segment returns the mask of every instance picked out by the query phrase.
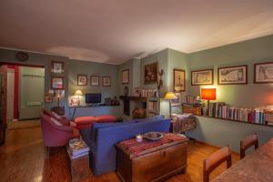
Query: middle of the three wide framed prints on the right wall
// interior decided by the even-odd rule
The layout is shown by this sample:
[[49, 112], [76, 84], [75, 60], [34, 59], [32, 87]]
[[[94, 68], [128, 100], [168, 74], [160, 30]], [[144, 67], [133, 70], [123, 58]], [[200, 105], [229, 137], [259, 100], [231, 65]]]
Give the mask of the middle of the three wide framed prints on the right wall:
[[218, 67], [218, 85], [248, 84], [248, 66]]

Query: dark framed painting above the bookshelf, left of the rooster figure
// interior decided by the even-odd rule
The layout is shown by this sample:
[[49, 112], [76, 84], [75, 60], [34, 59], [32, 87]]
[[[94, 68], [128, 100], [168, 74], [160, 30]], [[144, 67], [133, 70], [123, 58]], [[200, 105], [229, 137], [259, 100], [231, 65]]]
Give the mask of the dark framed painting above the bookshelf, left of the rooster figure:
[[145, 84], [157, 83], [157, 62], [144, 66]]

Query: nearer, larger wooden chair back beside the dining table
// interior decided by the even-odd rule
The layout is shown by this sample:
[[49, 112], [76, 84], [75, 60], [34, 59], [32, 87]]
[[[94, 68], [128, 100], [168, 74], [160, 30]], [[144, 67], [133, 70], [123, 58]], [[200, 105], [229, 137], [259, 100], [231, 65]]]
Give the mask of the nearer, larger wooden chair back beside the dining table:
[[231, 167], [231, 152], [229, 146], [222, 147], [204, 160], [203, 182], [208, 182], [209, 174], [225, 161], [227, 161], [227, 168]]

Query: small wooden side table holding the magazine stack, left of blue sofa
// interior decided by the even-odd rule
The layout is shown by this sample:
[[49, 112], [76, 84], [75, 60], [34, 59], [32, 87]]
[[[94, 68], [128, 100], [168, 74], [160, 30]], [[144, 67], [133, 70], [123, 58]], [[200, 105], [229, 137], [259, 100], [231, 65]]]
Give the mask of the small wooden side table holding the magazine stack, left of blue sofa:
[[71, 174], [71, 181], [81, 181], [86, 177], [90, 176], [90, 168], [89, 168], [89, 155], [72, 158], [67, 151], [68, 156], [68, 167]]

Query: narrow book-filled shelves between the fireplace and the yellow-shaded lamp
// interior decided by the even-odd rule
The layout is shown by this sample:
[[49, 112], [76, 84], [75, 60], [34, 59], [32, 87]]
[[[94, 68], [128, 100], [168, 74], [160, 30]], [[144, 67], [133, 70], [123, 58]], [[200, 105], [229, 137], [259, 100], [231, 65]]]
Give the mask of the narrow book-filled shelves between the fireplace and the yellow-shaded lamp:
[[147, 97], [147, 118], [160, 115], [160, 98]]

